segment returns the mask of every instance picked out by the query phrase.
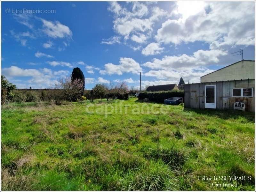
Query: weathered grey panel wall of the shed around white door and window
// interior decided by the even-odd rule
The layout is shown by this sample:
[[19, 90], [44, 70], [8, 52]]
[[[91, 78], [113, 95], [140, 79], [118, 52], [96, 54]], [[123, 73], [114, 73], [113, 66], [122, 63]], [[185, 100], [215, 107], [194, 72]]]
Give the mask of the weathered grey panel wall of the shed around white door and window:
[[[185, 84], [184, 106], [204, 109], [204, 85], [216, 85], [216, 108], [233, 109], [235, 102], [243, 102], [245, 111], [254, 112], [254, 79]], [[253, 88], [253, 97], [232, 97], [233, 88]]]

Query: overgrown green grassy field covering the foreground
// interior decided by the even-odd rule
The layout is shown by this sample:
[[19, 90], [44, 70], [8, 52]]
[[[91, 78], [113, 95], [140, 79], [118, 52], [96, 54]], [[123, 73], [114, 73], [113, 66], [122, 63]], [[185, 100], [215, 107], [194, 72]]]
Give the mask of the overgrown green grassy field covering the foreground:
[[254, 168], [253, 113], [136, 98], [2, 108], [3, 190], [253, 190]]

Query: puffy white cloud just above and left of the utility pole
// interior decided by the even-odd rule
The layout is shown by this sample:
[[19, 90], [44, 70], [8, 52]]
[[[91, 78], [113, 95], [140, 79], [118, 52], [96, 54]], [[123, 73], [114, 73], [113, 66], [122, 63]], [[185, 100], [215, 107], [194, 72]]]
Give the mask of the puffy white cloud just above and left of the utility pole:
[[117, 74], [122, 75], [123, 73], [139, 73], [142, 71], [140, 64], [134, 61], [132, 58], [120, 57], [119, 65], [107, 63], [104, 65], [105, 69], [100, 70], [100, 74]]

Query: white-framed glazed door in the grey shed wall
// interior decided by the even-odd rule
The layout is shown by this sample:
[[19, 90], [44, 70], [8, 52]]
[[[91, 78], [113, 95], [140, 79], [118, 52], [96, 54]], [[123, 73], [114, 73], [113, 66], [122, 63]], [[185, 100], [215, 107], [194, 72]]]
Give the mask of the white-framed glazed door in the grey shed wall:
[[204, 107], [216, 109], [216, 85], [204, 86]]

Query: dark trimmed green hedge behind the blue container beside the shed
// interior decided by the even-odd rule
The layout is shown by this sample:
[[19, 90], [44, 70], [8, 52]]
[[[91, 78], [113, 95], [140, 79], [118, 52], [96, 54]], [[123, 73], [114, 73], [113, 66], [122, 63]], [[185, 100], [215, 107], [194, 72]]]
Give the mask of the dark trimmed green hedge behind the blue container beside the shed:
[[164, 103], [165, 99], [170, 97], [182, 97], [184, 101], [184, 91], [160, 91], [160, 92], [141, 92], [139, 94], [139, 100], [143, 100], [148, 98], [149, 101], [156, 102], [156, 103]]

